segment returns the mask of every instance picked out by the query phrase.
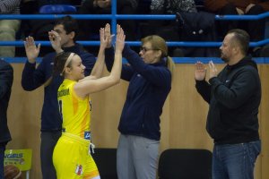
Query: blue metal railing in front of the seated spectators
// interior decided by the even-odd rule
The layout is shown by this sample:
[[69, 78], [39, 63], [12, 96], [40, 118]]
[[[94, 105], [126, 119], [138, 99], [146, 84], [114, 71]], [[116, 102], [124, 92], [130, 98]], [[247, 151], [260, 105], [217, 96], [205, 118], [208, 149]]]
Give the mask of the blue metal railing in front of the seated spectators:
[[[117, 27], [117, 20], [175, 20], [176, 15], [167, 15], [167, 14], [160, 14], [160, 15], [147, 15], [147, 14], [134, 14], [134, 15], [125, 15], [125, 14], [117, 14], [117, 1], [112, 1], [111, 7], [111, 14], [71, 14], [74, 19], [77, 20], [92, 20], [92, 19], [99, 19], [99, 20], [111, 20], [111, 31], [112, 33], [116, 33]], [[1, 19], [6, 20], [53, 20], [64, 17], [66, 14], [20, 14], [20, 15], [7, 15], [1, 14]], [[248, 20], [260, 20], [269, 17], [269, 12], [262, 13], [258, 15], [216, 15], [216, 21], [233, 21], [233, 20], [240, 20], [240, 21], [248, 21]], [[49, 41], [36, 41], [40, 43], [42, 46], [50, 46]], [[83, 46], [99, 46], [100, 41], [77, 41], [78, 43], [82, 44]], [[141, 42], [138, 41], [126, 41], [127, 44], [130, 46], [140, 46]], [[169, 47], [220, 47], [221, 42], [201, 42], [201, 41], [192, 41], [192, 42], [184, 42], [184, 41], [168, 41], [167, 42]], [[269, 44], [269, 38], [264, 40], [260, 40], [257, 42], [250, 42], [250, 47], [260, 47]], [[23, 41], [1, 41], [0, 46], [16, 46], [16, 47], [23, 47]], [[6, 58], [9, 59], [9, 58]], [[20, 61], [22, 58], [18, 58], [14, 62], [22, 62]], [[190, 60], [190, 58], [184, 58]], [[192, 58], [193, 59], [193, 58]], [[211, 58], [212, 59], [212, 58]], [[180, 60], [178, 60], [178, 63]], [[185, 63], [185, 61], [183, 60]], [[266, 63], [267, 61], [262, 59], [261, 62]]]

